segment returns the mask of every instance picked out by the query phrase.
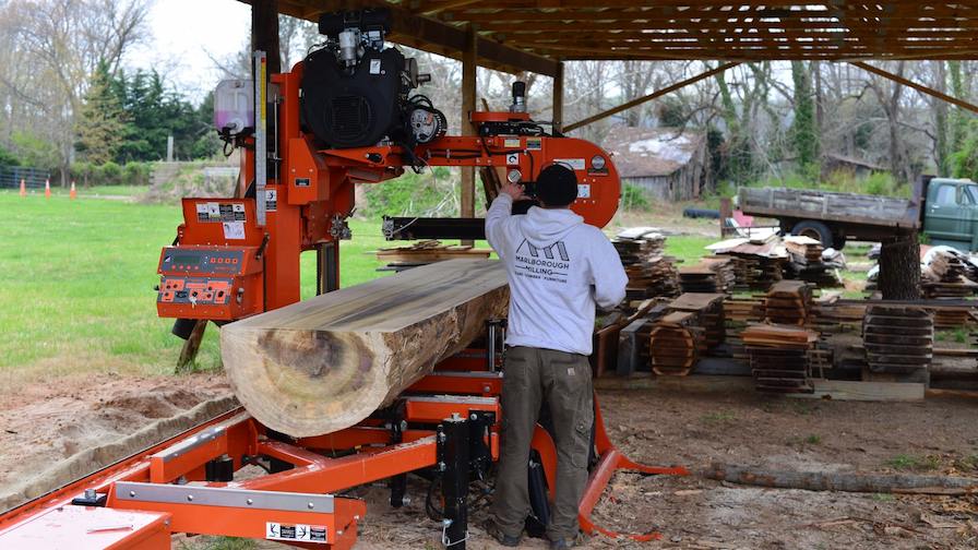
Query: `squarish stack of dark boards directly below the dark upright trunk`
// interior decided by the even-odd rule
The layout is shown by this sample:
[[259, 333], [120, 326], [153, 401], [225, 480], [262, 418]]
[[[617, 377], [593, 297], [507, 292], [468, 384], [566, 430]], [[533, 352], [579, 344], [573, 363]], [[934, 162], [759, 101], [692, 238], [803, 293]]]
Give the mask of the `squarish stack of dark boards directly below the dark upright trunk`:
[[873, 373], [916, 375], [930, 368], [934, 323], [923, 308], [873, 304], [866, 309], [862, 345]]

